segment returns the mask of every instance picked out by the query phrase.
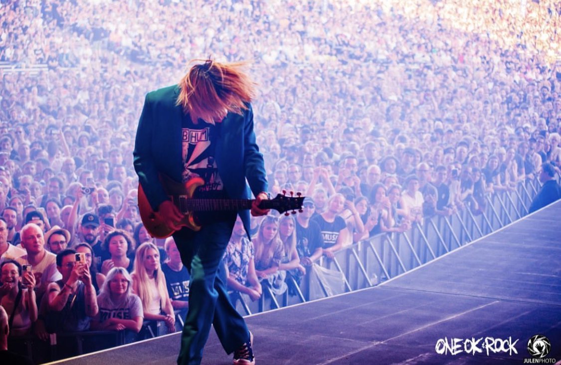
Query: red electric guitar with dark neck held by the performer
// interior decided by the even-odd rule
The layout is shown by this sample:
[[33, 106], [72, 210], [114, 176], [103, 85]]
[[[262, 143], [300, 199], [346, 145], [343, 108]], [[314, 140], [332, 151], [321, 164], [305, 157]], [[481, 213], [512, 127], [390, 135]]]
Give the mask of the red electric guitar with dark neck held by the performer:
[[[202, 178], [192, 178], [186, 183], [178, 183], [171, 178], [160, 174], [160, 182], [164, 187], [165, 193], [171, 198], [173, 204], [182, 212], [183, 219], [179, 225], [187, 227], [194, 231], [201, 229], [200, 222], [197, 219], [197, 212], [213, 212], [213, 211], [238, 211], [243, 209], [251, 209], [254, 200], [252, 199], [204, 199], [194, 197], [196, 188], [204, 185]], [[284, 192], [286, 193], [286, 192]], [[175, 231], [167, 227], [165, 222], [160, 219], [158, 214], [152, 210], [148, 198], [139, 184], [139, 211], [142, 223], [148, 232], [156, 238], [167, 238]], [[297, 193], [296, 196], [278, 194], [274, 199], [263, 200], [259, 204], [261, 209], [274, 209], [285, 215], [289, 215], [288, 211], [292, 210], [292, 214], [296, 214], [296, 210], [302, 211], [302, 203], [304, 197]]]

